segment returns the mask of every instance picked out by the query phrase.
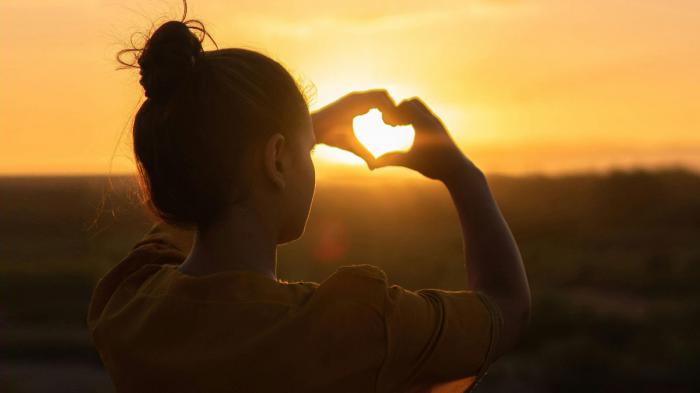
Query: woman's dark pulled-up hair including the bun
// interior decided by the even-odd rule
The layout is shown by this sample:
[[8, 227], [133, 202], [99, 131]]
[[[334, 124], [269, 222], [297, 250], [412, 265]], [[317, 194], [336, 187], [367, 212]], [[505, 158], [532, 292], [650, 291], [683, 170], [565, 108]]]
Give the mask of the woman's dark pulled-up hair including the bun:
[[147, 97], [133, 128], [143, 202], [186, 228], [207, 227], [245, 199], [251, 154], [308, 116], [282, 65], [247, 49], [204, 51], [206, 35], [197, 21], [169, 21], [143, 48], [121, 52], [135, 53]]

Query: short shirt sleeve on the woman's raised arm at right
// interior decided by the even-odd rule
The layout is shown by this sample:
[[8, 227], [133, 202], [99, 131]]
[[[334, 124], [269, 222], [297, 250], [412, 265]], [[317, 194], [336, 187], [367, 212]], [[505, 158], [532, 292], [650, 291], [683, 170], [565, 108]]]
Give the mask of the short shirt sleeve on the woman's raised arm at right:
[[478, 291], [386, 287], [380, 392], [467, 392], [494, 360], [502, 317]]

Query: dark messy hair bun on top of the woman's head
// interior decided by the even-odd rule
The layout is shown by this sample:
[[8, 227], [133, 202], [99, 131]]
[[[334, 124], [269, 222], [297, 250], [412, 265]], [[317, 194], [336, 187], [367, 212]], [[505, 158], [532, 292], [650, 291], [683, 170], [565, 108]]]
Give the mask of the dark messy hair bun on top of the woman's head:
[[148, 39], [138, 58], [141, 86], [146, 97], [168, 97], [192, 75], [202, 53], [202, 43], [180, 21], [161, 25]]

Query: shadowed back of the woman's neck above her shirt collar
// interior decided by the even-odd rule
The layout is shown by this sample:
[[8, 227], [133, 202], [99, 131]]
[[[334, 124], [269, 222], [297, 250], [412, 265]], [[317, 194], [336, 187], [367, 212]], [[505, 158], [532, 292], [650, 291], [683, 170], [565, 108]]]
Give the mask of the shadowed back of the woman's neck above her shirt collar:
[[192, 250], [178, 269], [193, 276], [252, 270], [277, 281], [276, 231], [265, 223], [252, 208], [232, 208], [224, 219], [196, 232]]

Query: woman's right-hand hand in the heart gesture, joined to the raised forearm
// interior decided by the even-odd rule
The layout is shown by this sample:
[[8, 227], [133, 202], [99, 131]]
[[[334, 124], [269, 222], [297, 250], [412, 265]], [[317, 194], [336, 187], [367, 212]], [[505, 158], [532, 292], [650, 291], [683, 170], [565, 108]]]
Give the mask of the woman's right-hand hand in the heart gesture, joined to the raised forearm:
[[420, 99], [402, 101], [392, 118], [397, 123], [413, 126], [416, 132], [413, 146], [407, 152], [390, 152], [377, 157], [370, 168], [404, 166], [443, 182], [464, 168], [475, 168], [459, 150], [440, 119]]

